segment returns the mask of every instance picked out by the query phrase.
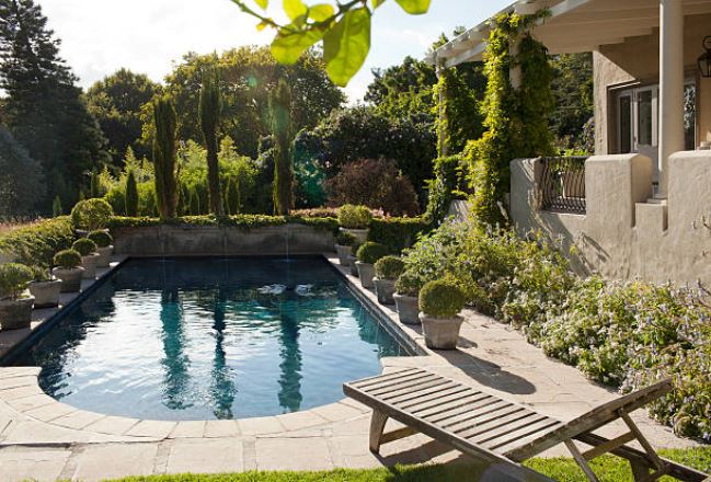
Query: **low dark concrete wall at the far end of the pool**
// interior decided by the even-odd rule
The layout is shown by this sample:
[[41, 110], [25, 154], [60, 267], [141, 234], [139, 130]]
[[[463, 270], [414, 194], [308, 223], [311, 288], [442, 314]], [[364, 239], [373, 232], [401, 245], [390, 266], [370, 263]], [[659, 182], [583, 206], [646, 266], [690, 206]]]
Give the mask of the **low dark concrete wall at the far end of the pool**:
[[114, 230], [117, 254], [130, 256], [238, 256], [319, 254], [333, 251], [333, 234], [289, 223], [257, 228], [150, 226]]

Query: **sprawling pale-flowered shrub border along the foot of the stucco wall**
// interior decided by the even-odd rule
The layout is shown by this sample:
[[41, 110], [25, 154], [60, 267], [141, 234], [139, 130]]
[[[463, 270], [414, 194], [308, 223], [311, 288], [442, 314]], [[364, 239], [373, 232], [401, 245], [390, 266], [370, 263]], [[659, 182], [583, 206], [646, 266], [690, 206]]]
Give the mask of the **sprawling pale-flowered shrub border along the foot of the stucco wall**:
[[711, 443], [708, 294], [581, 279], [559, 246], [470, 223], [445, 222], [406, 250], [404, 262], [401, 285], [411, 291], [454, 278], [468, 305], [512, 323], [547, 355], [595, 380], [632, 390], [673, 376], [675, 389], [652, 414], [677, 434]]

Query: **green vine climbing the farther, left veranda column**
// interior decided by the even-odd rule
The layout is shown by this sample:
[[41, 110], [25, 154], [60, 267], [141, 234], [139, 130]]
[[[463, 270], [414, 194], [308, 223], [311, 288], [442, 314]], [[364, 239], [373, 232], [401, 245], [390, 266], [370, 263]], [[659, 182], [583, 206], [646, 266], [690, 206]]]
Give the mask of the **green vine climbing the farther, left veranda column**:
[[444, 69], [434, 89], [437, 118], [437, 154], [461, 152], [469, 139], [483, 133], [482, 115], [475, 93], [456, 69]]

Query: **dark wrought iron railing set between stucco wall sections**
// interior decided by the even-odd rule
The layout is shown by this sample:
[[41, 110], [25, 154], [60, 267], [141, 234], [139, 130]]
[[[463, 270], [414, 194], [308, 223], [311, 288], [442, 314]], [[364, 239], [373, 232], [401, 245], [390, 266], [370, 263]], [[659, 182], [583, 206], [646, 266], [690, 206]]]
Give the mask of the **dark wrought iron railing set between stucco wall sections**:
[[585, 214], [586, 157], [542, 158], [541, 209]]

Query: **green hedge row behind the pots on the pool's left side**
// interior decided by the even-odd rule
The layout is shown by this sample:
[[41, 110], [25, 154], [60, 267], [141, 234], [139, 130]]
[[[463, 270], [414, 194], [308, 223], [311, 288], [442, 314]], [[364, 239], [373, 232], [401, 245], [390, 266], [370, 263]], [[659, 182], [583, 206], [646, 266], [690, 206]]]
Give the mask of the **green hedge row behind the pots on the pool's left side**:
[[69, 216], [47, 219], [0, 236], [0, 253], [27, 265], [49, 266], [51, 257], [77, 239]]

